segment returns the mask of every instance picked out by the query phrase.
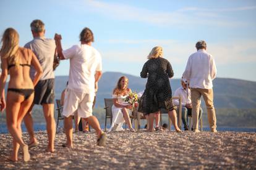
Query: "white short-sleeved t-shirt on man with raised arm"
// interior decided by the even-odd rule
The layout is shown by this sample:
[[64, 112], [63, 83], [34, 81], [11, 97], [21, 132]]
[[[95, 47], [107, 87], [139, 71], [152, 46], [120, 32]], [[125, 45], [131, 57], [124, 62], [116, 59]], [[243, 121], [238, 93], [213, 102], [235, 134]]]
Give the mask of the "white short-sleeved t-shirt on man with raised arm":
[[102, 70], [101, 55], [95, 48], [80, 44], [62, 51], [65, 59], [70, 59], [69, 84], [67, 88], [85, 92], [95, 92], [95, 71]]

